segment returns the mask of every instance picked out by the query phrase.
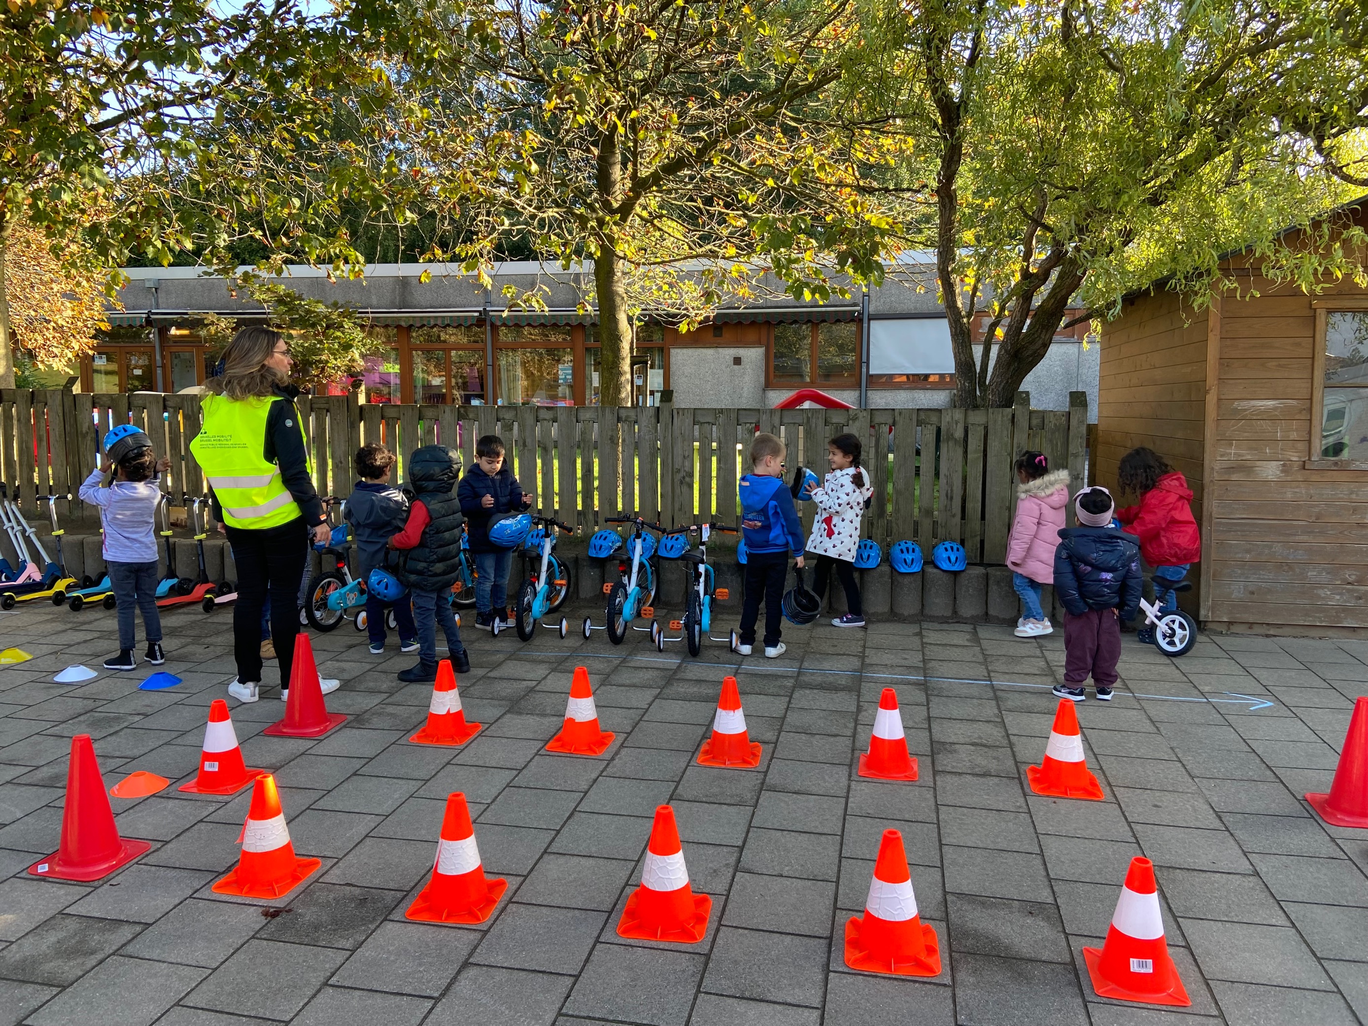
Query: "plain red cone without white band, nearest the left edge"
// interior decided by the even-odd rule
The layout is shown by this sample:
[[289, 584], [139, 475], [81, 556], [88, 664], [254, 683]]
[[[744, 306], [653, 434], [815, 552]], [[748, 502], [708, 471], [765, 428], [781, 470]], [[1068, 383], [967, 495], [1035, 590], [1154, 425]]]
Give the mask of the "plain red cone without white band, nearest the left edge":
[[148, 841], [131, 841], [119, 836], [90, 735], [78, 733], [71, 739], [71, 759], [67, 762], [62, 841], [56, 852], [29, 866], [29, 873], [86, 884], [109, 876], [150, 847]]

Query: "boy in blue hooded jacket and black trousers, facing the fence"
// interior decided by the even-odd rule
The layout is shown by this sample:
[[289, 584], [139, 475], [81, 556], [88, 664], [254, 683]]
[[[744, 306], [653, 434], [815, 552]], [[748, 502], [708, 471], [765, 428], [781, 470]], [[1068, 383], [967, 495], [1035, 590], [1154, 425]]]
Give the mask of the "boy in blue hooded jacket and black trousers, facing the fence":
[[741, 531], [746, 539], [746, 605], [736, 651], [751, 654], [755, 621], [765, 601], [765, 658], [784, 654], [780, 640], [784, 583], [789, 553], [793, 565], [803, 566], [803, 525], [798, 520], [793, 495], [784, 484], [784, 443], [774, 435], [759, 434], [751, 443], [751, 472], [737, 487], [741, 497]]

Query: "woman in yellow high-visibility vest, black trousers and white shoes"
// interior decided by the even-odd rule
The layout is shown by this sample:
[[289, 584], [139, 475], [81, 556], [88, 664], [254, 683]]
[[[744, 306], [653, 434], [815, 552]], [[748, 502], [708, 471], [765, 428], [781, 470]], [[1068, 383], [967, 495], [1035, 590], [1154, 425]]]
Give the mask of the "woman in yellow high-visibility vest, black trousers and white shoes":
[[[242, 328], [205, 382], [202, 427], [190, 451], [204, 471], [219, 529], [237, 565], [233, 651], [238, 676], [228, 694], [256, 702], [261, 685], [261, 610], [271, 596], [271, 637], [280, 665], [280, 698], [289, 695], [295, 596], [312, 540], [328, 540], [327, 517], [313, 490], [304, 423], [290, 384], [290, 346], [279, 331]], [[335, 680], [323, 689], [337, 688]]]

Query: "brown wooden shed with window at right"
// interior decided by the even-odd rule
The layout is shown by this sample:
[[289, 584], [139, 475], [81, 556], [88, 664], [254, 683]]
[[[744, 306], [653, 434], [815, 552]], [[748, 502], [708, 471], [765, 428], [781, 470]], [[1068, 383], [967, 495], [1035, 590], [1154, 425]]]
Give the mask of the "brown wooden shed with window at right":
[[[1364, 227], [1368, 197], [1335, 218]], [[1115, 491], [1141, 445], [1187, 477], [1205, 628], [1368, 636], [1368, 290], [1224, 267], [1259, 294], [1196, 311], [1156, 286], [1104, 328], [1092, 479]]]

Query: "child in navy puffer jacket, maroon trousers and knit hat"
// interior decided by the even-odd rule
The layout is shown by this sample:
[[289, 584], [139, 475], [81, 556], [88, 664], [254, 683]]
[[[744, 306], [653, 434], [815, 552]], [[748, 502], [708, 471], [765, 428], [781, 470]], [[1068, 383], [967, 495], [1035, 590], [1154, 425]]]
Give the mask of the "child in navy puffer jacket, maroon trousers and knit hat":
[[1140, 609], [1140, 539], [1109, 527], [1115, 503], [1107, 488], [1074, 497], [1079, 527], [1066, 527], [1055, 550], [1055, 594], [1064, 606], [1064, 683], [1059, 698], [1082, 702], [1093, 677], [1107, 702], [1120, 659], [1120, 621]]

